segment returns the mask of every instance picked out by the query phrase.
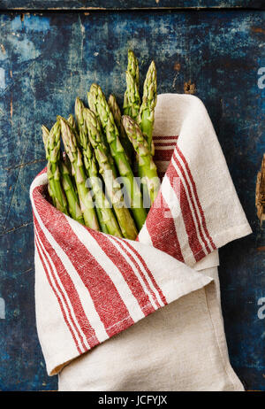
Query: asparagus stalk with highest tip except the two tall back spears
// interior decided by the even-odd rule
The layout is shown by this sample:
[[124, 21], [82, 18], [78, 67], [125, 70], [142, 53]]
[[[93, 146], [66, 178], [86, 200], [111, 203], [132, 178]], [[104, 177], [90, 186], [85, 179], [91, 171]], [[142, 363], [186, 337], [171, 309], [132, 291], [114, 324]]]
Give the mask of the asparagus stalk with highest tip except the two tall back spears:
[[147, 212], [142, 203], [140, 188], [134, 180], [132, 168], [125, 154], [125, 150], [120, 143], [117, 126], [110, 111], [110, 106], [106, 101], [102, 89], [96, 84], [92, 84], [90, 88], [88, 103], [89, 105], [92, 103], [91, 105], [101, 120], [102, 128], [110, 145], [110, 154], [115, 160], [119, 174], [123, 177], [126, 193], [131, 202], [133, 217], [137, 227], [140, 229], [147, 218]]

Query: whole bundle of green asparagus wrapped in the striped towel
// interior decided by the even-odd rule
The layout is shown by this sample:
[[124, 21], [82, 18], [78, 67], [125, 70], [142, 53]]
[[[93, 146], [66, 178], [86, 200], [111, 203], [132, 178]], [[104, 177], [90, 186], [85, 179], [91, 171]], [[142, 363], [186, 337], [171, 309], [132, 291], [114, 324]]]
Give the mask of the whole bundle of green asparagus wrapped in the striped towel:
[[[123, 116], [114, 95], [92, 84], [88, 106], [75, 101], [75, 118], [42, 126], [52, 204], [79, 223], [134, 240], [157, 196], [152, 141], [156, 71], [152, 61], [140, 98], [139, 64], [128, 51]], [[61, 136], [64, 151], [61, 150]]]

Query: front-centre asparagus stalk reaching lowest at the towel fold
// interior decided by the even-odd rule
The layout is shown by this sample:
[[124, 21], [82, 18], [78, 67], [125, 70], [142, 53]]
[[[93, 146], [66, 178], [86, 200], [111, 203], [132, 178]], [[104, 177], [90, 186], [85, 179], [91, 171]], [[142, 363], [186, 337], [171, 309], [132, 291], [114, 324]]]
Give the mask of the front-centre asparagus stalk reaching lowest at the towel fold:
[[137, 228], [134, 225], [129, 210], [123, 206], [123, 193], [120, 184], [116, 180], [116, 171], [115, 169], [113, 170], [113, 167], [110, 164], [110, 157], [102, 137], [101, 127], [99, 126], [94, 112], [86, 108], [84, 109], [83, 114], [87, 124], [89, 139], [95, 151], [95, 158], [98, 162], [99, 172], [102, 174], [102, 178], [105, 182], [107, 194], [113, 204], [122, 234], [125, 238], [134, 240], [138, 234]]

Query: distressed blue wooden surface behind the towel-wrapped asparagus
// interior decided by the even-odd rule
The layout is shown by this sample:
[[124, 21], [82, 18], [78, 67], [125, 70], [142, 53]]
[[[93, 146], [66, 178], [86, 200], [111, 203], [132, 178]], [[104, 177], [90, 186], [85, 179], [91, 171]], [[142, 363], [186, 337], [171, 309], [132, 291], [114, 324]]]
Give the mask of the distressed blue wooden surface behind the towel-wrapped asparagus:
[[[0, 1], [0, 10], [19, 3]], [[57, 378], [46, 374], [34, 317], [28, 189], [45, 165], [41, 125], [72, 112], [75, 96], [86, 99], [92, 81], [121, 101], [128, 48], [139, 56], [141, 73], [155, 59], [159, 93], [182, 93], [191, 80], [216, 127], [254, 229], [220, 251], [231, 363], [246, 389], [265, 390], [265, 320], [257, 316], [265, 297], [265, 235], [254, 208], [265, 151], [265, 89], [258, 87], [264, 40], [265, 13], [254, 10], [0, 14], [0, 390], [57, 389]]]

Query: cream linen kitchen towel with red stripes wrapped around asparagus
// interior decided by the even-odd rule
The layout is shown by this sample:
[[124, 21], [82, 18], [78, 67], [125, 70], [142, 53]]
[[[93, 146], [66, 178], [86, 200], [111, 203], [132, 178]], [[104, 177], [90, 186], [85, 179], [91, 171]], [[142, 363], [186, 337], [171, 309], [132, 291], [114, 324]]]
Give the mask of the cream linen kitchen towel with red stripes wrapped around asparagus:
[[[201, 100], [158, 96], [154, 142], [155, 163], [163, 181], [135, 242], [96, 232], [57, 211], [47, 200], [45, 169], [32, 183], [37, 329], [48, 373], [61, 372], [62, 390], [242, 390], [226, 350], [216, 266], [217, 249], [250, 234], [251, 229]], [[195, 315], [191, 305], [196, 307]], [[174, 317], [178, 311], [183, 313], [178, 323], [172, 314], [166, 319], [162, 347], [154, 331], [159, 331], [159, 317], [170, 308], [177, 308]], [[137, 322], [142, 319], [140, 327]], [[158, 327], [146, 328], [150, 320], [157, 320]], [[148, 351], [142, 350], [142, 359], [136, 359], [136, 367], [132, 367], [134, 348], [132, 362], [131, 352], [125, 360], [117, 358], [127, 351], [126, 345], [141, 343], [143, 330], [149, 331], [154, 353], [160, 351], [166, 372], [172, 353], [177, 359], [172, 369], [175, 375], [170, 374], [168, 382], [152, 378], [157, 362], [152, 357], [145, 364], [149, 375], [141, 379], [145, 371], [140, 363], [149, 356], [150, 345]], [[186, 335], [186, 351], [183, 344], [176, 349], [180, 333]], [[193, 336], [198, 348], [192, 353], [188, 345]], [[167, 349], [167, 337], [177, 337], [174, 347]], [[94, 348], [99, 344], [100, 348]], [[111, 357], [104, 351], [113, 344], [117, 357], [110, 365], [113, 351]], [[198, 357], [200, 353], [205, 356]], [[190, 382], [186, 378], [191, 376], [183, 371], [184, 356], [186, 367], [193, 371]], [[77, 379], [78, 368], [83, 366], [84, 371], [84, 360], [78, 357], [87, 362], [87, 382], [82, 381], [82, 387]], [[201, 361], [207, 376], [201, 374]], [[182, 367], [181, 374], [176, 366]], [[111, 367], [109, 376], [107, 367]]]

